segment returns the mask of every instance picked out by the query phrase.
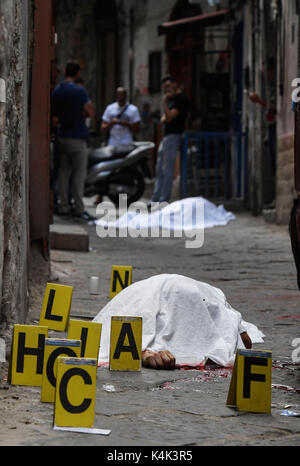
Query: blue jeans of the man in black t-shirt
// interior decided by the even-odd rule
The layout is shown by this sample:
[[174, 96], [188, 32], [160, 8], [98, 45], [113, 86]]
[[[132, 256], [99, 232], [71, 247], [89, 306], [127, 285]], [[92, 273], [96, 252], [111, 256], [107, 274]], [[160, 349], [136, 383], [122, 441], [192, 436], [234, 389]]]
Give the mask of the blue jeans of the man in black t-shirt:
[[163, 138], [159, 146], [153, 202], [167, 202], [171, 197], [174, 167], [181, 138], [181, 134], [169, 134]]

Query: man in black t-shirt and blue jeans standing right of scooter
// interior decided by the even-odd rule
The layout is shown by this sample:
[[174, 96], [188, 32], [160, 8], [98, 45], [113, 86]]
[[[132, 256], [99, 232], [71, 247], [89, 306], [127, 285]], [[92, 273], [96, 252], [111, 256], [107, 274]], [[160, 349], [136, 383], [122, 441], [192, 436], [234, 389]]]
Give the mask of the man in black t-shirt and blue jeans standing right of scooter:
[[172, 76], [166, 76], [162, 84], [165, 94], [161, 118], [164, 133], [158, 149], [156, 183], [152, 202], [165, 202], [171, 197], [174, 166], [189, 110], [188, 99]]

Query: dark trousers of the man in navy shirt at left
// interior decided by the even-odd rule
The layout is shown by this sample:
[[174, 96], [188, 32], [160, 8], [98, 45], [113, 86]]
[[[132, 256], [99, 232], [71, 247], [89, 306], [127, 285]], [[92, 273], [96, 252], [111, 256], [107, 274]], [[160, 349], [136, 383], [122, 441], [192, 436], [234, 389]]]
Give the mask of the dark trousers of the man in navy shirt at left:
[[69, 205], [69, 181], [72, 175], [72, 195], [74, 198], [74, 211], [83, 214], [84, 182], [87, 167], [87, 144], [85, 139], [60, 138], [60, 171], [59, 194], [60, 213], [68, 213]]

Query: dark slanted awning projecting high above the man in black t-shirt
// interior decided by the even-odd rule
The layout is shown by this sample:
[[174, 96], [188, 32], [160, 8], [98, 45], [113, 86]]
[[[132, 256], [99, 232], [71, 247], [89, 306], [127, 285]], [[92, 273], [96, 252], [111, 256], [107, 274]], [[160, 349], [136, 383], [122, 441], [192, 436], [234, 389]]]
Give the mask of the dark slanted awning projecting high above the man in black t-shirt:
[[158, 26], [158, 34], [161, 36], [169, 32], [187, 30], [195, 27], [218, 26], [224, 22], [227, 16], [229, 16], [229, 10], [220, 10], [204, 15], [169, 21]]

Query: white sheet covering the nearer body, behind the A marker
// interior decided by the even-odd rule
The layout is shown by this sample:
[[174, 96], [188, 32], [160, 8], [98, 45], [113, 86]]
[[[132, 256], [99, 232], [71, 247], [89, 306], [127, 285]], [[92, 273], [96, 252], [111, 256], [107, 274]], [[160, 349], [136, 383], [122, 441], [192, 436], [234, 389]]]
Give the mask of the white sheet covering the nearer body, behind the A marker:
[[142, 349], [169, 350], [178, 364], [234, 363], [240, 334], [247, 331], [253, 343], [263, 334], [211, 285], [176, 274], [156, 275], [133, 283], [116, 295], [94, 318], [102, 323], [99, 362], [108, 362], [112, 316], [143, 318]]

